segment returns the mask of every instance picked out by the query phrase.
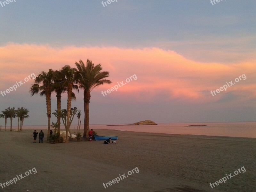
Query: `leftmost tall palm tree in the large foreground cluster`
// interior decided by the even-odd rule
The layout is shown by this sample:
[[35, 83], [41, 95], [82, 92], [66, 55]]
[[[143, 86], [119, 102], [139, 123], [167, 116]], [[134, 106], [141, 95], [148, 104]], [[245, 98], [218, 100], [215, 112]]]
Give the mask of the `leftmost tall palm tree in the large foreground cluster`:
[[[47, 117], [48, 117], [48, 132], [47, 132], [47, 142], [50, 139], [50, 129], [51, 129], [51, 95], [52, 95], [52, 84], [54, 80], [54, 71], [49, 69], [48, 72], [42, 71], [38, 76], [35, 78], [35, 84], [30, 87], [29, 92], [31, 96], [38, 93], [40, 91], [40, 96], [45, 96], [46, 98], [46, 108], [47, 108]], [[42, 84], [39, 86], [39, 84]]]

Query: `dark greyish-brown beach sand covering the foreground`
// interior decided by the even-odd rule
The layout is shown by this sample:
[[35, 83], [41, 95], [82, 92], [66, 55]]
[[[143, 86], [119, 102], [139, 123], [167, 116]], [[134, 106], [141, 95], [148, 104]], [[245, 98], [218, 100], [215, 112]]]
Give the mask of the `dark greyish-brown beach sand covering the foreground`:
[[[37, 130], [38, 132], [40, 130]], [[46, 130], [43, 130], [46, 134]], [[118, 135], [103, 141], [69, 144], [33, 143], [33, 130], [0, 132], [0, 182], [35, 167], [16, 184], [0, 191], [255, 192], [256, 139], [95, 130]], [[73, 133], [73, 130], [72, 130]], [[129, 172], [136, 168], [138, 173]], [[244, 167], [226, 183], [214, 183]], [[103, 186], [123, 175], [128, 177]], [[122, 177], [122, 176], [121, 176]], [[122, 177], [123, 178], [123, 177]]]

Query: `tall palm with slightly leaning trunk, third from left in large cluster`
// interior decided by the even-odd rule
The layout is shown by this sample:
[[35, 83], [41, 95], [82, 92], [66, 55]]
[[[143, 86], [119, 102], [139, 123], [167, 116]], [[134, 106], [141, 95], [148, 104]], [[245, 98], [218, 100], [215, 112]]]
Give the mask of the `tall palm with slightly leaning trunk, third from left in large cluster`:
[[65, 80], [64, 80], [64, 86], [67, 87], [67, 93], [68, 93], [68, 102], [67, 102], [67, 126], [66, 128], [66, 143], [68, 143], [68, 132], [71, 123], [70, 122], [70, 112], [71, 112], [71, 102], [72, 102], [72, 90], [76, 89], [77, 92], [78, 86], [74, 85], [77, 82], [77, 69], [76, 68], [71, 68], [69, 65], [64, 66], [61, 68], [61, 73], [64, 74]]

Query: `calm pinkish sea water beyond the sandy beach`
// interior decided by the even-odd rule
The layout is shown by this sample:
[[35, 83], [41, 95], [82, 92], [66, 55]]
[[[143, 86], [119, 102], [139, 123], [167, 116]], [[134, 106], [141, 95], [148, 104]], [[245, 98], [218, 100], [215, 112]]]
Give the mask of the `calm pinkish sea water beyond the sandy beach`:
[[[158, 123], [158, 125], [127, 125], [106, 126], [107, 124], [90, 125], [92, 129], [112, 129], [120, 131], [188, 134], [188, 135], [218, 135], [229, 137], [256, 138], [256, 122], [231, 122], [231, 123]], [[184, 127], [185, 125], [210, 125], [209, 127]], [[77, 125], [71, 125], [74, 129]], [[2, 126], [3, 130], [4, 126]], [[8, 127], [9, 128], [9, 127]], [[23, 126], [24, 129], [47, 129], [47, 126]], [[61, 126], [64, 129], [64, 126]], [[81, 125], [83, 129], [83, 125]], [[13, 126], [17, 129], [17, 126]]]

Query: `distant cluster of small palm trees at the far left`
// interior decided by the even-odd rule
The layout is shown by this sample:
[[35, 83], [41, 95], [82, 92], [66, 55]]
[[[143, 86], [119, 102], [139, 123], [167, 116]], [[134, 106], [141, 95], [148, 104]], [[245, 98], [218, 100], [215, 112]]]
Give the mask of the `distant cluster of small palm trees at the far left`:
[[[14, 107], [12, 107], [12, 108], [8, 107], [4, 111], [2, 111], [2, 113], [0, 114], [0, 118], [5, 119], [4, 131], [6, 131], [7, 118], [11, 119], [10, 131], [12, 131], [12, 118], [15, 118], [15, 117], [18, 117], [18, 131], [22, 131], [24, 118], [29, 117], [28, 112], [29, 112], [29, 110], [24, 107], [21, 107], [21, 108], [18, 107], [18, 109], [16, 109], [16, 110]], [[0, 131], [2, 131], [2, 128], [0, 128]]]

